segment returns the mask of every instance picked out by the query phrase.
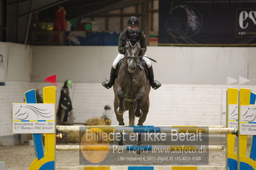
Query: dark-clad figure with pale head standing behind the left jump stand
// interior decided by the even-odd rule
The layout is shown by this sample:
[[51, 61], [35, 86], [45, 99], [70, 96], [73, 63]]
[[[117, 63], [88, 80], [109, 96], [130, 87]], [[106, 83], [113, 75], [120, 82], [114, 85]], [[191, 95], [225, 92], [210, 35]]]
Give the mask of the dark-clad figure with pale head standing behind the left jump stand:
[[67, 122], [69, 120], [69, 116], [71, 116], [73, 107], [71, 104], [71, 98], [69, 97], [69, 88], [72, 85], [71, 80], [67, 80], [64, 82], [64, 86], [60, 92], [60, 102], [58, 103], [58, 112], [57, 118], [58, 123]]

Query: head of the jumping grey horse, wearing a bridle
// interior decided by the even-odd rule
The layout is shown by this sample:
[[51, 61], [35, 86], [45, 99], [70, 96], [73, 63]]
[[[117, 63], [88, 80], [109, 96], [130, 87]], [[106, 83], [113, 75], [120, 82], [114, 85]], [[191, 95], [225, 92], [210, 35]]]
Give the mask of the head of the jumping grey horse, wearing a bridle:
[[141, 50], [141, 44], [139, 42], [127, 41], [124, 46], [125, 57], [128, 65], [128, 71], [134, 73], [139, 65], [139, 53]]

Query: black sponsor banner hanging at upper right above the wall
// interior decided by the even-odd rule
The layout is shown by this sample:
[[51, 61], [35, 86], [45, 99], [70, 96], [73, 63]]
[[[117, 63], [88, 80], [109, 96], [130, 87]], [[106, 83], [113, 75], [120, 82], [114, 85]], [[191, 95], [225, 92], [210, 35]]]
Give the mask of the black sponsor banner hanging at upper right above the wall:
[[159, 0], [158, 43], [256, 46], [256, 0]]

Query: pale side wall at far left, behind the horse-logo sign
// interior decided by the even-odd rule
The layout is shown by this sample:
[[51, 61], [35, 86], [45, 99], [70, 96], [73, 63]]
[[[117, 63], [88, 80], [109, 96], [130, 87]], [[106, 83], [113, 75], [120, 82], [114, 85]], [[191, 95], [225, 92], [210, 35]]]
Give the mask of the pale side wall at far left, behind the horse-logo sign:
[[[32, 47], [18, 43], [0, 43], [4, 56], [4, 73], [0, 86], [0, 145], [17, 143], [18, 136], [12, 134], [12, 103], [24, 102], [23, 93], [30, 89], [32, 71]], [[3, 70], [1, 70], [3, 71]]]

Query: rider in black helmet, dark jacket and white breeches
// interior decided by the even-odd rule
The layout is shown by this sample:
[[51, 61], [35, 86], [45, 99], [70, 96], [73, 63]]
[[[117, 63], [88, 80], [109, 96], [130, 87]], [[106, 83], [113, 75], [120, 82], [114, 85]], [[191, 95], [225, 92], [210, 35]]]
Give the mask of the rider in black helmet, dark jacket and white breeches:
[[118, 42], [119, 54], [117, 55], [117, 57], [115, 58], [112, 64], [112, 68], [110, 72], [110, 80], [105, 81], [102, 84], [105, 88], [109, 89], [114, 84], [117, 64], [121, 59], [124, 58], [124, 42], [126, 42], [126, 40], [139, 41], [141, 43], [140, 56], [143, 56], [142, 60], [147, 65], [148, 78], [149, 78], [150, 85], [153, 89], [158, 89], [160, 88], [160, 86], [162, 86], [160, 82], [154, 81], [153, 68], [150, 60], [146, 57], [146, 54], [145, 54], [147, 50], [145, 35], [138, 28], [139, 28], [139, 19], [137, 19], [137, 17], [130, 17], [127, 22], [127, 28], [124, 29], [124, 31], [119, 36], [119, 42]]

